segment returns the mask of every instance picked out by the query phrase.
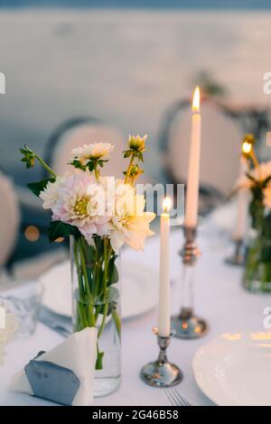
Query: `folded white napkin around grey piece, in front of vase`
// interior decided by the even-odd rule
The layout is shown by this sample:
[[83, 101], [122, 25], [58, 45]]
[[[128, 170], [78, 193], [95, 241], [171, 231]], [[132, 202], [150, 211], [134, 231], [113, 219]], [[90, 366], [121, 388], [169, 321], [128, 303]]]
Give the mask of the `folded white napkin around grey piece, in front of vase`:
[[[79, 378], [79, 390], [72, 401], [73, 406], [89, 406], [93, 401], [97, 334], [97, 328], [84, 328], [50, 352], [35, 358], [36, 361], [47, 361], [68, 368]], [[24, 370], [14, 375], [10, 390], [34, 394]]]

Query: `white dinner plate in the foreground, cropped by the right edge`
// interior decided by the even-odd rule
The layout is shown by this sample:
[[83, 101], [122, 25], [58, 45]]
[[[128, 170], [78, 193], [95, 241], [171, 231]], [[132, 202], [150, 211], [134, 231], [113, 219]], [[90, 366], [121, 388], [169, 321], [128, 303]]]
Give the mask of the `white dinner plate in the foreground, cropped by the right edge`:
[[198, 349], [192, 366], [220, 406], [271, 405], [271, 332], [221, 335]]

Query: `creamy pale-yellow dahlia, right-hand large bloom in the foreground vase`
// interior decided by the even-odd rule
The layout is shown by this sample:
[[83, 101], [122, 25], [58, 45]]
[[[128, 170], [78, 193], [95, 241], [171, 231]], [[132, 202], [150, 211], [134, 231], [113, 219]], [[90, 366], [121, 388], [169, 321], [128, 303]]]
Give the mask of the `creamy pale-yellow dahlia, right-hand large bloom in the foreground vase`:
[[153, 235], [149, 225], [155, 215], [144, 212], [145, 198], [136, 195], [129, 184], [118, 181], [115, 215], [111, 220], [110, 240], [115, 252], [124, 244], [135, 250], [143, 250], [145, 238]]

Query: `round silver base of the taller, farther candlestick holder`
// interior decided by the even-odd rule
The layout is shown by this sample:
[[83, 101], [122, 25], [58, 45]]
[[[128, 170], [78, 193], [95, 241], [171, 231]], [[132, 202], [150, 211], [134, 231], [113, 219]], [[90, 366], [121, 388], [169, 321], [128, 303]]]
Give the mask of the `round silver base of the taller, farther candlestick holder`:
[[172, 317], [173, 336], [177, 338], [200, 338], [208, 331], [204, 319], [194, 317], [192, 309], [182, 309], [179, 315]]

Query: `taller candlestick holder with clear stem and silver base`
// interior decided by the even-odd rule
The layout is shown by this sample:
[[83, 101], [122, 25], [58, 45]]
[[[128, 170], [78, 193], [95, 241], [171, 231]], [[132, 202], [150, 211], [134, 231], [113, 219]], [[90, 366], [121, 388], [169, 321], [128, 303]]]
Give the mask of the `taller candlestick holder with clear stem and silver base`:
[[196, 244], [196, 227], [184, 226], [185, 242], [182, 251], [182, 308], [172, 317], [173, 336], [179, 338], [199, 338], [208, 331], [207, 322], [197, 317], [193, 311], [193, 282], [196, 264], [201, 252]]

